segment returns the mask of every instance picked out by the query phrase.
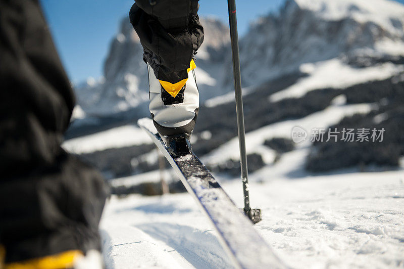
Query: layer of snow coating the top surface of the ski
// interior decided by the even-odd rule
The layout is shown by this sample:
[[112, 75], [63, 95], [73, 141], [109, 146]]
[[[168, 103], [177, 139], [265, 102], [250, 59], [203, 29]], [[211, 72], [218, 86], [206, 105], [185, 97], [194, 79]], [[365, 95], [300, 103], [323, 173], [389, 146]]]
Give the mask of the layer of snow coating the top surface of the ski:
[[229, 251], [231, 257], [233, 253], [240, 267], [284, 268], [272, 249], [254, 229], [251, 229], [251, 222], [234, 206], [227, 194], [221, 188], [214, 187], [216, 180], [211, 174], [206, 169], [198, 167], [201, 163], [195, 156], [189, 154], [177, 158], [176, 163], [179, 167], [183, 167], [184, 164], [192, 167], [191, 170], [183, 170], [187, 183], [184, 185], [187, 189], [189, 186], [190, 192], [200, 201], [201, 208], [210, 216], [214, 227], [221, 235], [219, 239], [226, 242], [222, 245], [226, 246], [225, 249]]

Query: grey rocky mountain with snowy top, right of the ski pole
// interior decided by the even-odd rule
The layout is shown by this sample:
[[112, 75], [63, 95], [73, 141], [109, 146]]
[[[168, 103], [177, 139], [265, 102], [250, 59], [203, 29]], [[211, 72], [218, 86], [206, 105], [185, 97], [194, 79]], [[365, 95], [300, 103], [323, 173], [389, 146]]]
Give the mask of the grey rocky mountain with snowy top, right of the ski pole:
[[404, 6], [389, 0], [288, 0], [240, 40], [243, 85], [304, 63], [404, 55], [403, 25]]

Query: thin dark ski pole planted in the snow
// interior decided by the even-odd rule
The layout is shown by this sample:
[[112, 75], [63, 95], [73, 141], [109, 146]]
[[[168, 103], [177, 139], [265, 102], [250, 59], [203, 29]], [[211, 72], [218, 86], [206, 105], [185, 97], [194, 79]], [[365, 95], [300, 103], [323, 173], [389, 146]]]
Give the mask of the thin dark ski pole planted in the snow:
[[240, 75], [240, 58], [238, 51], [236, 3], [235, 0], [227, 0], [227, 4], [229, 8], [231, 54], [233, 57], [234, 93], [236, 96], [236, 113], [237, 113], [237, 127], [238, 127], [238, 142], [240, 147], [241, 180], [243, 182], [243, 194], [244, 194], [244, 213], [252, 220], [252, 222], [257, 223], [258, 221], [261, 220], [261, 210], [251, 209], [249, 205], [247, 154], [245, 150], [244, 112], [243, 112], [243, 98], [241, 93], [241, 75]]

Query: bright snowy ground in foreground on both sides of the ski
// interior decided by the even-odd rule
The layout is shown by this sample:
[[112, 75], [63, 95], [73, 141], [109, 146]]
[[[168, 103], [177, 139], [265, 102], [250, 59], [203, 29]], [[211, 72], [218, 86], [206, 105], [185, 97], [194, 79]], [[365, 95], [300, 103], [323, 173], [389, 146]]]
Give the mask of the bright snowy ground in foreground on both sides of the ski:
[[[241, 206], [240, 183], [223, 187]], [[279, 179], [250, 190], [263, 210], [256, 229], [294, 268], [404, 266], [402, 171]], [[108, 268], [231, 267], [186, 193], [112, 197], [101, 229]]]

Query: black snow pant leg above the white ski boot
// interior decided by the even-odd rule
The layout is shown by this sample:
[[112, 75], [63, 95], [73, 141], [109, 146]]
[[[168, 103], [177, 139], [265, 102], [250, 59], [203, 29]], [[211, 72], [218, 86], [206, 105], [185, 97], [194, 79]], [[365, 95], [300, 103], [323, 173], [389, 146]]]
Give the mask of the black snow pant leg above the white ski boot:
[[198, 0], [136, 0], [132, 6], [130, 22], [157, 79], [177, 83], [188, 78], [193, 55], [204, 41], [198, 8]]

